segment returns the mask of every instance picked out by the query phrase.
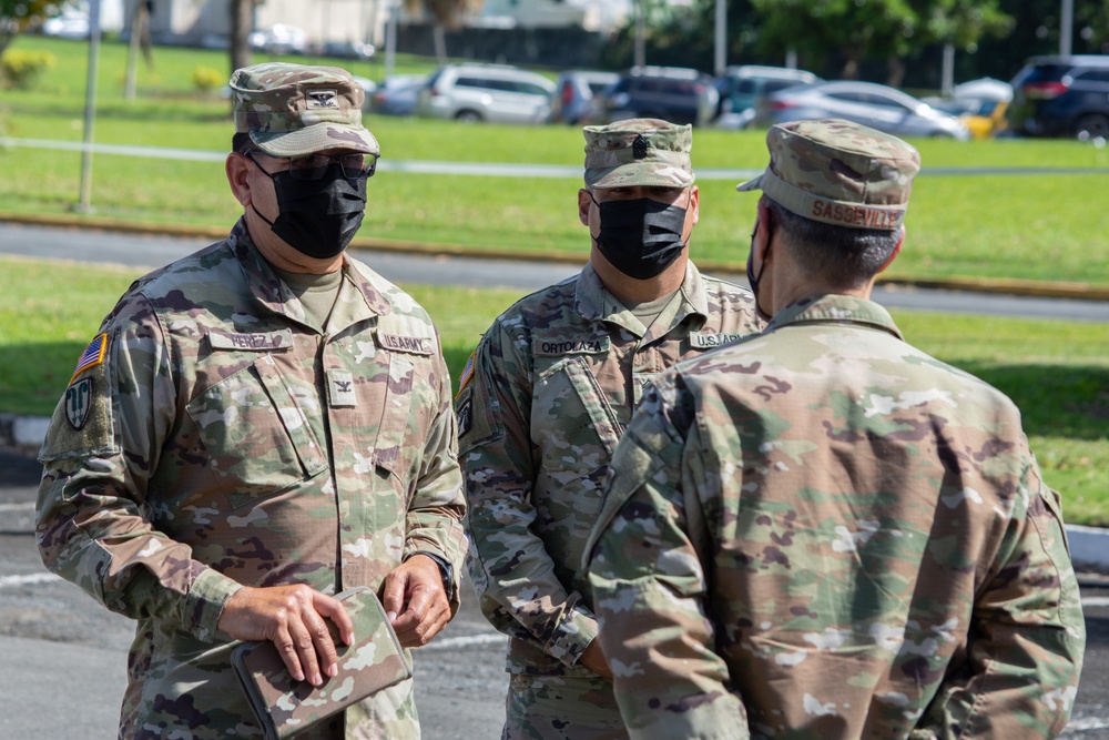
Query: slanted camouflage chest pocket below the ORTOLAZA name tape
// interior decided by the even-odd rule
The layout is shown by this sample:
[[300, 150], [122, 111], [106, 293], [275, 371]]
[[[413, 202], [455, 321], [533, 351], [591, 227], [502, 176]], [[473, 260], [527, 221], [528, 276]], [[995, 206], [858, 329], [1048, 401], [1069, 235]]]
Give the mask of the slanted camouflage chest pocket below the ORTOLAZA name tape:
[[622, 432], [583, 357], [560, 359], [537, 377], [531, 438], [554, 483], [564, 485], [607, 465]]

